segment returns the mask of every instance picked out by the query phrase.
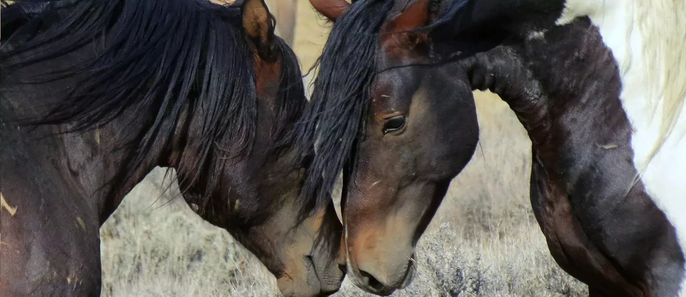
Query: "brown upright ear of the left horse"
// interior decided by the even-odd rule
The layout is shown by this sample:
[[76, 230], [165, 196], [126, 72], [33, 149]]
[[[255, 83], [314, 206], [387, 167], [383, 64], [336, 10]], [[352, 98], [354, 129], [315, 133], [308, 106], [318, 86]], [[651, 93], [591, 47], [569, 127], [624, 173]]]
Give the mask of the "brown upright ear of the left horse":
[[260, 58], [269, 60], [276, 54], [274, 16], [264, 0], [245, 0], [241, 5], [243, 34]]

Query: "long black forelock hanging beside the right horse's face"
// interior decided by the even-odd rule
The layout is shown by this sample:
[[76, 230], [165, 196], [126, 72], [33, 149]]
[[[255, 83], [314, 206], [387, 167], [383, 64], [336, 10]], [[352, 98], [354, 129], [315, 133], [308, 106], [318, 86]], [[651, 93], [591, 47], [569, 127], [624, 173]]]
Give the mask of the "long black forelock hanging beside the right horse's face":
[[392, 1], [355, 1], [333, 25], [318, 60], [310, 105], [296, 127], [301, 158], [316, 147], [300, 192], [301, 217], [326, 206], [344, 163], [351, 158], [370, 104], [379, 28], [391, 7]]

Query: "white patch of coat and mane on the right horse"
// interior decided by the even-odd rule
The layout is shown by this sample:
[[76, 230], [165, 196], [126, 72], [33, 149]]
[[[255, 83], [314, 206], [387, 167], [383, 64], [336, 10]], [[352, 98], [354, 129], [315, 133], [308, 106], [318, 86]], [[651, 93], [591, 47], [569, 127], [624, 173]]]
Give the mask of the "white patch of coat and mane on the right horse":
[[[659, 1], [650, 5], [670, 12], [676, 3]], [[604, 45], [611, 49], [622, 81], [619, 99], [632, 128], [628, 143], [633, 152], [632, 165], [650, 200], [674, 227], [681, 252], [686, 254], [686, 107], [677, 108], [686, 100], [683, 75], [678, 74], [684, 63], [678, 47], [683, 25], [678, 21], [677, 25], [670, 23], [674, 21], [671, 15], [656, 17], [660, 10], [641, 7], [639, 1], [597, 4], [568, 0], [558, 23], [587, 14]], [[672, 108], [665, 108], [665, 104]], [[674, 117], [669, 132], [664, 120]], [[686, 296], [686, 277], [681, 282], [681, 296]]]

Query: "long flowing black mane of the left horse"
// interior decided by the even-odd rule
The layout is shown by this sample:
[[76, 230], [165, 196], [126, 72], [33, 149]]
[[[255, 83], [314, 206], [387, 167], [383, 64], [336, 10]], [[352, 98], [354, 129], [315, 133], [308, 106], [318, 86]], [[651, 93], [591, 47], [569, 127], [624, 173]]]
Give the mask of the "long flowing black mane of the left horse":
[[[253, 54], [244, 41], [241, 3], [205, 0], [2, 1], [0, 47], [3, 88], [70, 79], [49, 112], [29, 125], [67, 124], [69, 132], [102, 127], [123, 112], [136, 112], [145, 125], [125, 143], [134, 156], [125, 164], [126, 180], [141, 168], [155, 141], [172, 138], [184, 112], [202, 111], [192, 161], [179, 165], [209, 174], [211, 193], [229, 157], [248, 156], [257, 129]], [[274, 21], [273, 19], [270, 21]], [[272, 138], [279, 139], [307, 103], [297, 59], [280, 38], [283, 53], [280, 91]], [[21, 69], [92, 48], [96, 54], [78, 65], [18, 75]], [[90, 51], [89, 51], [90, 52]], [[34, 67], [36, 68], [36, 67]], [[50, 68], [50, 67], [46, 67]], [[47, 98], [32, 98], [45, 104]], [[4, 99], [3, 99], [4, 100]], [[3, 103], [4, 104], [4, 103]]]

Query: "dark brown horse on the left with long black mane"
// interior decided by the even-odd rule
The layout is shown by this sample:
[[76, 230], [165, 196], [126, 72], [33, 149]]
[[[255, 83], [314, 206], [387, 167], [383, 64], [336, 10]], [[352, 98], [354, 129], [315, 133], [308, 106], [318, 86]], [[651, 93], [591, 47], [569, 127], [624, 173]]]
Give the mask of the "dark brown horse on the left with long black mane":
[[157, 165], [285, 295], [340, 287], [333, 206], [297, 216], [307, 100], [262, 0], [7, 4], [0, 296], [98, 296], [99, 227]]

